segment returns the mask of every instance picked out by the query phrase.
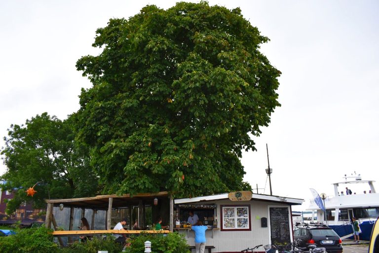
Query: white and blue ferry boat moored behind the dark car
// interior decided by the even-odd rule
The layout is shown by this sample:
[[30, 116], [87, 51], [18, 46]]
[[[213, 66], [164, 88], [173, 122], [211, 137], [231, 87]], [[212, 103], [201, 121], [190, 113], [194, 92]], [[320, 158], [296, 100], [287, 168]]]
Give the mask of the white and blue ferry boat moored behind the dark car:
[[[318, 207], [314, 199], [310, 200], [307, 210], [312, 211], [312, 220], [317, 213], [317, 221], [327, 223], [342, 239], [353, 239], [351, 220], [356, 217], [362, 230], [359, 234], [360, 240], [370, 241], [371, 230], [379, 217], [379, 193], [375, 191], [373, 184], [375, 181], [362, 181], [360, 175], [353, 177], [345, 175], [344, 179], [345, 181], [333, 183], [334, 196], [321, 196], [325, 198], [323, 200], [325, 215], [324, 210]], [[351, 195], [346, 195], [346, 187], [357, 188], [358, 184], [365, 185], [367, 190], [359, 193], [352, 190]]]

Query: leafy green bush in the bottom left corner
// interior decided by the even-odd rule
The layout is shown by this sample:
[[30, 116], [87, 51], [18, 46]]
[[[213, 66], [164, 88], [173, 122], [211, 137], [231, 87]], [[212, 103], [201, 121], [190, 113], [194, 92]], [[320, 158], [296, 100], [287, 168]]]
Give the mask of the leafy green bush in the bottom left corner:
[[1, 253], [59, 253], [50, 229], [25, 228], [15, 232], [15, 235], [0, 238]]

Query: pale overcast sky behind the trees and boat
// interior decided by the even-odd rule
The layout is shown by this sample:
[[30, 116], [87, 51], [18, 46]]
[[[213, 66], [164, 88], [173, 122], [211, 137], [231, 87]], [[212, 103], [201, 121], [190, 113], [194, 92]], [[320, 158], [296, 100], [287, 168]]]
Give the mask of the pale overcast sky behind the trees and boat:
[[[83, 55], [99, 53], [91, 47], [96, 29], [147, 4], [166, 9], [175, 1], [1, 0], [0, 136], [10, 124], [44, 111], [60, 119], [76, 111], [80, 89], [91, 84], [75, 64]], [[209, 4], [240, 7], [271, 39], [262, 52], [282, 72], [277, 91], [282, 107], [254, 138], [258, 151], [244, 153], [245, 180], [253, 187], [266, 185], [269, 193], [266, 143], [274, 195], [308, 200], [308, 188], [332, 195], [331, 184], [354, 171], [379, 180], [379, 1]], [[5, 170], [1, 164], [0, 174]], [[364, 190], [354, 187], [353, 192]]]

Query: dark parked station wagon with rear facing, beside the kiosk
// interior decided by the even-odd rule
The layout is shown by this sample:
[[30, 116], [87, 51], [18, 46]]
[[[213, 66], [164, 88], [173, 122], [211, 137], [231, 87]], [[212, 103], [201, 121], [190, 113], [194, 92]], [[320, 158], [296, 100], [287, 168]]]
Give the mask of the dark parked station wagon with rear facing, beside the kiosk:
[[297, 224], [294, 228], [294, 240], [302, 248], [315, 244], [317, 248], [325, 248], [328, 253], [342, 253], [343, 251], [340, 236], [324, 224]]

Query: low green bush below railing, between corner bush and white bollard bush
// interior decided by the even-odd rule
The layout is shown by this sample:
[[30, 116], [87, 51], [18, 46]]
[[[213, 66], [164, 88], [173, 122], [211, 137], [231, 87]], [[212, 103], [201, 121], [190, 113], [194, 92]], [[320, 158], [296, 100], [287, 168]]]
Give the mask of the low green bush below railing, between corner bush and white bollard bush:
[[76, 242], [69, 248], [61, 249], [60, 253], [97, 253], [98, 251], [108, 251], [108, 253], [120, 253], [122, 246], [114, 242], [113, 236], [107, 239], [94, 237], [86, 242]]

